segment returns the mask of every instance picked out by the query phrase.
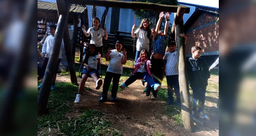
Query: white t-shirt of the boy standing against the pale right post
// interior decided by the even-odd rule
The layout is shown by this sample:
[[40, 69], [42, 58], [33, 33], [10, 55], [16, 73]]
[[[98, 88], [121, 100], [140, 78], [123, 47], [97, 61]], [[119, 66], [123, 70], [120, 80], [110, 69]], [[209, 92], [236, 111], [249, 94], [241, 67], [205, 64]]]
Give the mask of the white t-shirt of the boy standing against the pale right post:
[[166, 75], [179, 74], [178, 55], [177, 51], [166, 52], [163, 56], [163, 60], [166, 60]]

